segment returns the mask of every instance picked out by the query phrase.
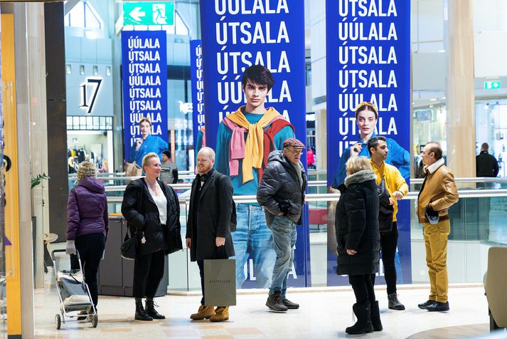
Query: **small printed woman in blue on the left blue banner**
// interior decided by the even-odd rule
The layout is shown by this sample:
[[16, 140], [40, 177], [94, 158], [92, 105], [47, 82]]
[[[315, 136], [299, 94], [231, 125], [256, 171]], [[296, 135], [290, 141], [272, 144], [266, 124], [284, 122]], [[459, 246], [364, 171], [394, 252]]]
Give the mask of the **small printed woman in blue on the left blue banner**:
[[162, 161], [162, 152], [169, 149], [169, 145], [161, 137], [150, 134], [151, 121], [148, 118], [139, 120], [139, 131], [141, 137], [137, 139], [135, 147], [132, 147], [129, 161], [135, 161], [139, 167], [142, 167], [143, 157], [150, 152], [155, 152]]

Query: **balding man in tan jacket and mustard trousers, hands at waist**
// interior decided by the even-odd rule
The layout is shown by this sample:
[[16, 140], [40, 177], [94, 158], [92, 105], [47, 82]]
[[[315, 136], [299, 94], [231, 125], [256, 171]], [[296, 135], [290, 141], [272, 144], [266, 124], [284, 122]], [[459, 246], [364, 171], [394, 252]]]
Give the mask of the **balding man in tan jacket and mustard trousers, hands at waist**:
[[438, 142], [428, 142], [421, 157], [426, 177], [417, 197], [417, 217], [424, 226], [430, 291], [428, 301], [418, 306], [427, 311], [449, 311], [447, 237], [451, 223], [447, 211], [458, 201], [458, 189], [454, 175], [444, 165], [442, 147]]

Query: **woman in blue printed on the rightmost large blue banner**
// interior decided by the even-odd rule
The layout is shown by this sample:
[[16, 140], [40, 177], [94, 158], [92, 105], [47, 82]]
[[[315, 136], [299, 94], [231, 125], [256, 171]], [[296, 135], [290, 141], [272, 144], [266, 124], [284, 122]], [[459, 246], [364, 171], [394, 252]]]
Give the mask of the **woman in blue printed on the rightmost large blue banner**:
[[[338, 189], [338, 186], [345, 181], [347, 175], [345, 164], [349, 158], [358, 156], [370, 157], [367, 145], [370, 138], [377, 136], [375, 133], [377, 121], [378, 111], [373, 103], [363, 102], [358, 105], [356, 108], [356, 123], [359, 129], [359, 141], [343, 151], [331, 187]], [[390, 137], [386, 138], [386, 142], [389, 153], [385, 163], [393, 165], [400, 170], [403, 179], [407, 181], [410, 179], [410, 153]]]

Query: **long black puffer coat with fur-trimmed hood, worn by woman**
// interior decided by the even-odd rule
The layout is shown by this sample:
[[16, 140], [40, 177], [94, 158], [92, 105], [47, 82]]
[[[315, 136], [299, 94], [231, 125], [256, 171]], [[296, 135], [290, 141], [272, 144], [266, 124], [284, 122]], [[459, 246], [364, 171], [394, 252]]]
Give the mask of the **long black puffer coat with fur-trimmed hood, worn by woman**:
[[[380, 233], [378, 231], [378, 192], [375, 174], [362, 170], [345, 178], [336, 206], [338, 274], [378, 272]], [[347, 249], [357, 251], [350, 256]]]

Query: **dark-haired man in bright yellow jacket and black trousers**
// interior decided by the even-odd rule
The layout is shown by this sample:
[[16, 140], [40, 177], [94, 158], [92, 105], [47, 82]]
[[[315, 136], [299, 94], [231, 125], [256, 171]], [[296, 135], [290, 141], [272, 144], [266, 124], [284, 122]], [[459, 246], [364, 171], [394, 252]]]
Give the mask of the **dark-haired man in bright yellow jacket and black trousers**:
[[[373, 172], [377, 176], [380, 201], [382, 202], [381, 194], [387, 191], [385, 192], [385, 199], [388, 199], [387, 204], [392, 206], [393, 210], [392, 226], [390, 228], [386, 226], [384, 229], [380, 227], [380, 250], [384, 264], [385, 284], [388, 288], [388, 307], [392, 310], [405, 310], [405, 306], [397, 300], [395, 254], [398, 239], [397, 200], [405, 197], [408, 192], [408, 185], [396, 167], [385, 163], [389, 152], [385, 137], [372, 137], [368, 140], [368, 151], [370, 152], [371, 167], [373, 167]], [[375, 282], [375, 275], [373, 275], [373, 282]]]

